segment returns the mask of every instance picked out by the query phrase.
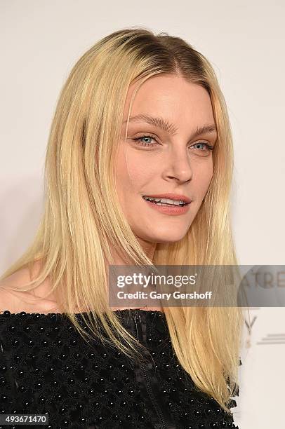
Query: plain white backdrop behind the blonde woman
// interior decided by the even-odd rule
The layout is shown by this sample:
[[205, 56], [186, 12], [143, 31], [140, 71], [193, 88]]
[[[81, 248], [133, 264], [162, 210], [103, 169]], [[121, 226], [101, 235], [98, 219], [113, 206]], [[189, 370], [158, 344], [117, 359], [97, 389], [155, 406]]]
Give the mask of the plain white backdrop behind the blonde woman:
[[[1, 272], [37, 228], [48, 131], [70, 69], [102, 36], [135, 25], [180, 36], [213, 64], [234, 137], [239, 264], [284, 264], [284, 1], [1, 0], [0, 8]], [[251, 310], [239, 429], [284, 427], [284, 315]]]

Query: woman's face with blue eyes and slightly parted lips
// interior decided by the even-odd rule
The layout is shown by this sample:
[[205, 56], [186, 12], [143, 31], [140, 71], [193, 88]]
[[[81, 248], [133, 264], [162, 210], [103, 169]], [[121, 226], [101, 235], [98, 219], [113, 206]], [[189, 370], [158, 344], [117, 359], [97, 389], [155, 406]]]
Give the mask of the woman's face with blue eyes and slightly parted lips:
[[[178, 76], [159, 75], [145, 81], [136, 93], [125, 143], [133, 90], [130, 86], [121, 128], [117, 192], [133, 233], [151, 252], [156, 243], [178, 241], [190, 228], [213, 175], [207, 144], [215, 144], [217, 133], [206, 90]], [[131, 120], [138, 115], [142, 116]], [[145, 116], [157, 119], [147, 121]], [[160, 128], [162, 123], [168, 124], [168, 130]], [[210, 130], [196, 134], [197, 128], [208, 125]], [[173, 205], [168, 209], [143, 198], [165, 193], [187, 196], [191, 203], [179, 212]]]

